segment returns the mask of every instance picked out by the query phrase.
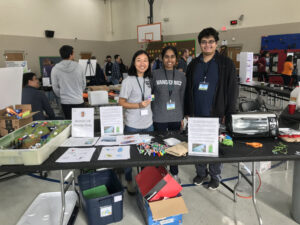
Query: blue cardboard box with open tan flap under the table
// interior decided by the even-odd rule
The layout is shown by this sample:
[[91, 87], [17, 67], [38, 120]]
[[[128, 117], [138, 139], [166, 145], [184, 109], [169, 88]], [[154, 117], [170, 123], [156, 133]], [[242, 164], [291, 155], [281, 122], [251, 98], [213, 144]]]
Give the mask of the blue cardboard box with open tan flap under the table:
[[147, 225], [179, 225], [182, 224], [182, 214], [188, 213], [180, 194], [174, 198], [148, 202], [138, 189], [136, 200]]

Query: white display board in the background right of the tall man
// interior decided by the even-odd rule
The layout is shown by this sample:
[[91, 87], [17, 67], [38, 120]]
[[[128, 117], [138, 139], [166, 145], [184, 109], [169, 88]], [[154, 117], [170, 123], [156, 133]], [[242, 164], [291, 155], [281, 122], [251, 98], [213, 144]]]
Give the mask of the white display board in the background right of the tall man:
[[253, 78], [253, 52], [240, 53], [240, 81], [251, 82]]

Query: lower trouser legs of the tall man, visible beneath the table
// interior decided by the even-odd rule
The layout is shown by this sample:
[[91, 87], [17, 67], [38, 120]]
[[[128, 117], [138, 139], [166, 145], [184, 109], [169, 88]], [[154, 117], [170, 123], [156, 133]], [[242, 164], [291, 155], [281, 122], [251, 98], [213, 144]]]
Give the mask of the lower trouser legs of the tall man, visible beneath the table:
[[222, 163], [208, 164], [209, 170], [207, 170], [207, 164], [197, 164], [196, 173], [199, 177], [206, 177], [208, 174], [211, 179], [221, 181]]

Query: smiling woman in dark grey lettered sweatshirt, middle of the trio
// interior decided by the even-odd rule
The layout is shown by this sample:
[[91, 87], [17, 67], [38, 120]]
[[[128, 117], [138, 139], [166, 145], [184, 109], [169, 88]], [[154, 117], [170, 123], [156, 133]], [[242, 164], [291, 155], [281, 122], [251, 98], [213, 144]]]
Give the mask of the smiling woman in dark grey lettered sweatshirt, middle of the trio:
[[[153, 71], [152, 103], [155, 131], [180, 130], [183, 120], [183, 103], [186, 77], [175, 69], [177, 50], [167, 46], [162, 50], [163, 69]], [[170, 172], [180, 183], [178, 166], [170, 166]]]

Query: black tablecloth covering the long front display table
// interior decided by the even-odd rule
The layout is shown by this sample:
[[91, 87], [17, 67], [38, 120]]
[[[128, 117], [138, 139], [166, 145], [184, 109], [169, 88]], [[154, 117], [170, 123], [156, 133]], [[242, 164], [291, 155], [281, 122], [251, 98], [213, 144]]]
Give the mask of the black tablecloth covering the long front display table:
[[[182, 141], [186, 141], [187, 137], [178, 133], [157, 134], [155, 133], [155, 140], [162, 142], [162, 139], [168, 137], [175, 137]], [[249, 141], [261, 142], [263, 148], [254, 149], [246, 146], [245, 143]], [[279, 140], [273, 138], [256, 138], [256, 139], [236, 139], [234, 140], [234, 147], [226, 147], [220, 145], [219, 157], [200, 157], [200, 156], [185, 156], [175, 157], [172, 155], [148, 156], [139, 154], [135, 145], [131, 146], [129, 160], [107, 160], [98, 161], [101, 151], [101, 146], [96, 147], [96, 151], [90, 162], [80, 163], [56, 163], [55, 161], [68, 149], [66, 147], [59, 147], [50, 157], [41, 165], [38, 166], [0, 166], [0, 172], [35, 172], [45, 170], [64, 170], [64, 169], [95, 169], [95, 168], [116, 168], [116, 167], [133, 167], [133, 166], [158, 166], [158, 165], [186, 165], [196, 163], [229, 163], [229, 162], [250, 162], [250, 161], [278, 161], [278, 160], [300, 160], [299, 155], [295, 155], [297, 150], [300, 150], [299, 143], [285, 143], [288, 146], [288, 154], [274, 155], [272, 149]]]

